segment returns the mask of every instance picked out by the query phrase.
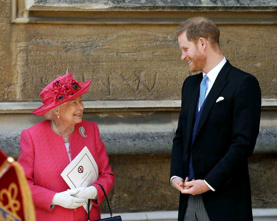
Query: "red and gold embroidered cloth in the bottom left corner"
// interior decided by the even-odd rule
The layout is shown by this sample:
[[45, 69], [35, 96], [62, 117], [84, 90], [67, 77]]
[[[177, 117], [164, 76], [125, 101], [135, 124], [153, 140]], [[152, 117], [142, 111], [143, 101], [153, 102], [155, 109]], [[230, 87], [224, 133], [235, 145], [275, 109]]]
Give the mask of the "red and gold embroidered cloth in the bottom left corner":
[[0, 221], [35, 221], [34, 206], [21, 166], [0, 149]]

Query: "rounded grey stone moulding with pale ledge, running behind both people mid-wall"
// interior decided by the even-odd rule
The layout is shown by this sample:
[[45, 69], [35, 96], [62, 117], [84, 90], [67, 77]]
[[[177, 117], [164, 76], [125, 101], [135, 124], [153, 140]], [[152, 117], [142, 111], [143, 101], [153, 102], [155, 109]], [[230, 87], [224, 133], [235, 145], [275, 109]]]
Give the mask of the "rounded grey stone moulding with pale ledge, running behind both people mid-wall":
[[[84, 101], [83, 119], [98, 124], [109, 156], [170, 155], [181, 100]], [[31, 115], [41, 102], [0, 102], [0, 148], [18, 158], [22, 130], [45, 120]], [[263, 99], [254, 153], [277, 153], [277, 100]], [[18, 123], [20, 122], [20, 123]]]

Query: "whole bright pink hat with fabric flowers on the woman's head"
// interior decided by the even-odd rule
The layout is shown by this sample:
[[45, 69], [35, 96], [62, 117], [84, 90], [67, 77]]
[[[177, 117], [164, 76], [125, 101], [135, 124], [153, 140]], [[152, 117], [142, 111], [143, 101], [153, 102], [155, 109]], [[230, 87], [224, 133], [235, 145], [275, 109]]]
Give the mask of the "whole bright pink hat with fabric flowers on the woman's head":
[[86, 93], [89, 89], [90, 80], [77, 82], [73, 79], [73, 72], [72, 74], [73, 77], [68, 74], [67, 68], [65, 75], [59, 76], [48, 84], [40, 93], [44, 105], [35, 109], [32, 114], [43, 115], [48, 110]]

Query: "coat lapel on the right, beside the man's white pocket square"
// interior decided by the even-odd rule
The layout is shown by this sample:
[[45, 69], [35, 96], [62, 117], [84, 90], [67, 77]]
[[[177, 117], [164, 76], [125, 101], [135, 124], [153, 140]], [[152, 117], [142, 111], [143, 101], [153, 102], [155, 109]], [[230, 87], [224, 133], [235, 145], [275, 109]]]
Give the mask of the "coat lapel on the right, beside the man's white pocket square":
[[[201, 117], [199, 119], [199, 123], [198, 123], [197, 130], [195, 133], [195, 138], [196, 138], [197, 134], [199, 133], [201, 127], [203, 126], [207, 116], [209, 115], [209, 113], [212, 109], [212, 106], [214, 105], [214, 102], [218, 98], [218, 95], [220, 94], [222, 89], [227, 84], [228, 80], [226, 80], [226, 77], [227, 77], [227, 74], [228, 74], [229, 70], [231, 69], [231, 67], [232, 67], [232, 65], [227, 60], [227, 62], [224, 64], [224, 66], [218, 73], [218, 76], [216, 77], [214, 85], [212, 86], [212, 88], [206, 98], [206, 102], [203, 107], [203, 111], [202, 111]], [[200, 87], [200, 85], [199, 85], [199, 87]]]

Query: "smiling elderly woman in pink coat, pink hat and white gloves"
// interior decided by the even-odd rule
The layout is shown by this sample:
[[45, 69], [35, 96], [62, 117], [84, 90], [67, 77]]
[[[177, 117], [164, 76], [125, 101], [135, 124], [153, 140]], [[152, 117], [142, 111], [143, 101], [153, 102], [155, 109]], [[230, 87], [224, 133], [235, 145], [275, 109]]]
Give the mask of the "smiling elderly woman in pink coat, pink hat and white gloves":
[[[18, 162], [24, 168], [32, 192], [37, 221], [87, 220], [83, 205], [88, 199], [93, 204], [90, 220], [98, 220], [99, 204], [105, 196], [97, 183], [106, 193], [113, 187], [115, 175], [108, 164], [98, 127], [94, 122], [82, 120], [81, 95], [89, 85], [90, 80], [77, 82], [66, 71], [42, 90], [44, 105], [32, 112], [47, 120], [21, 133]], [[92, 186], [68, 190], [61, 172], [85, 146], [98, 166], [98, 180]]]

